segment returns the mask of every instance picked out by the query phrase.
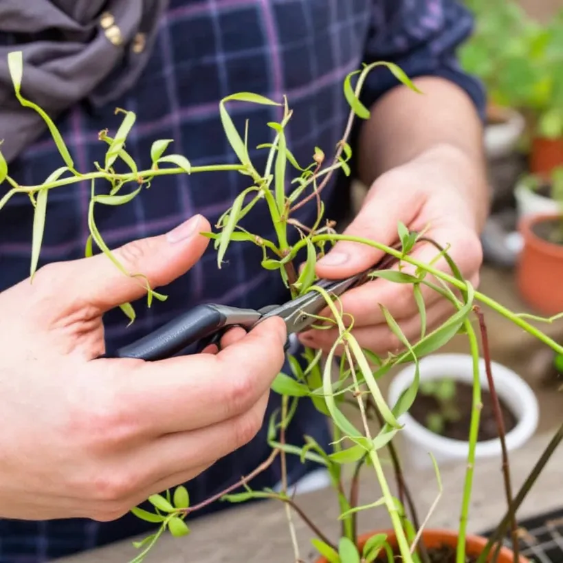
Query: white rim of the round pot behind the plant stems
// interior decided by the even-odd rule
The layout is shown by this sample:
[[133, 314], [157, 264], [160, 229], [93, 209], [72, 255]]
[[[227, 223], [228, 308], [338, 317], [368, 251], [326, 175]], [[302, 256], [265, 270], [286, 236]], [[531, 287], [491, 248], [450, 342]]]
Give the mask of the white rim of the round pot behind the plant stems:
[[[419, 362], [420, 379], [424, 381], [452, 377], [456, 381], [472, 384], [472, 362], [469, 354], [429, 355], [423, 357]], [[536, 432], [539, 417], [538, 400], [528, 384], [506, 366], [492, 362], [492, 372], [499, 399], [514, 412], [517, 419], [516, 426], [506, 435], [507, 449], [516, 450], [521, 448]], [[397, 374], [389, 389], [390, 406], [395, 405], [403, 390], [412, 383], [414, 377], [414, 364], [410, 364]], [[481, 388], [489, 388], [484, 360], [481, 360]], [[404, 456], [410, 461], [410, 465], [419, 468], [431, 466], [432, 459], [428, 452], [432, 452], [440, 465], [444, 462], [467, 459], [468, 442], [434, 434], [408, 413], [400, 417], [399, 422], [404, 425], [400, 432], [405, 441]], [[494, 456], [498, 456], [500, 459], [500, 440], [477, 443], [475, 455], [476, 459]]]

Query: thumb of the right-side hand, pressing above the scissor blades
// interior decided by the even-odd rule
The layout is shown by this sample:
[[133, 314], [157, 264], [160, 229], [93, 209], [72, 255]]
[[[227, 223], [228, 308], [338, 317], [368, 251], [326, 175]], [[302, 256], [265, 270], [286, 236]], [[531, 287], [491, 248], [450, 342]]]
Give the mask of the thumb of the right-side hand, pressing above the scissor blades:
[[[394, 185], [394, 175], [381, 177], [368, 192], [357, 217], [344, 234], [391, 245], [397, 240], [399, 221], [410, 224], [423, 206], [417, 192], [404, 192]], [[372, 267], [383, 253], [363, 243], [339, 241], [317, 263], [321, 278], [338, 279], [352, 276]]]

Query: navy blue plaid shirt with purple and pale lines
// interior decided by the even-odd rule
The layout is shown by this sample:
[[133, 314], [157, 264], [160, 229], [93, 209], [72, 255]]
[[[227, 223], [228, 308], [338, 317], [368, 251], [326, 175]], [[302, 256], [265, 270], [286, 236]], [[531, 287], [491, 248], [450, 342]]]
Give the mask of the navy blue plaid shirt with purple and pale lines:
[[[137, 85], [111, 107], [73, 107], [58, 119], [58, 126], [79, 170], [93, 170], [93, 162], [103, 162], [106, 147], [98, 141], [98, 131], [115, 131], [120, 120], [113, 114], [115, 107], [137, 113], [127, 148], [139, 166], [150, 166], [151, 143], [159, 138], [173, 138], [174, 151], [186, 155], [195, 166], [228, 164], [235, 157], [219, 120], [219, 100], [237, 91], [261, 93], [275, 100], [285, 93], [294, 109], [289, 146], [300, 164], [309, 164], [314, 146], [330, 154], [340, 140], [349, 111], [342, 81], [362, 62], [390, 60], [410, 77], [433, 75], [452, 80], [467, 91], [483, 114], [481, 85], [463, 74], [454, 58], [456, 47], [471, 30], [470, 14], [454, 0], [171, 0], [151, 60]], [[14, 43], [14, 38], [0, 33], [0, 41]], [[373, 103], [396, 84], [385, 69], [373, 72], [366, 81], [364, 103]], [[253, 147], [269, 141], [271, 130], [265, 124], [279, 120], [280, 114], [276, 108], [245, 104], [233, 116], [239, 127], [247, 117], [249, 146]], [[251, 151], [258, 170], [265, 165], [266, 152]], [[54, 143], [45, 134], [10, 166], [10, 173], [22, 184], [41, 184], [60, 166], [58, 162]], [[324, 192], [327, 216], [341, 219], [346, 186], [336, 190], [335, 185]], [[157, 179], [150, 190], [126, 206], [98, 206], [96, 221], [105, 241], [116, 247], [165, 232], [195, 213], [213, 224], [245, 187], [247, 179], [237, 173]], [[51, 192], [41, 264], [83, 256], [89, 190], [89, 185], [75, 184]], [[298, 219], [309, 224], [314, 213], [314, 206], [305, 206]], [[29, 200], [12, 199], [1, 213], [0, 224], [0, 289], [5, 289], [29, 272]], [[262, 236], [274, 236], [267, 213], [258, 209], [250, 214], [246, 226]], [[188, 274], [166, 288], [166, 302], [155, 302], [151, 309], [137, 305], [137, 320], [129, 328], [120, 311], [109, 313], [105, 319], [108, 348], [140, 338], [178, 311], [200, 302], [261, 307], [287, 298], [278, 274], [261, 269], [261, 251], [254, 245], [235, 243], [226, 259], [228, 264], [217, 270], [210, 247]], [[272, 397], [269, 412], [276, 406], [276, 397]], [[316, 437], [328, 448], [327, 427], [308, 401], [301, 402], [288, 441], [302, 443], [303, 434]], [[268, 454], [265, 432], [261, 432], [249, 445], [189, 483], [192, 502], [236, 481]], [[291, 462], [290, 481], [311, 469], [294, 456]], [[273, 467], [254, 487], [272, 486], [279, 477], [279, 468]], [[149, 526], [132, 516], [107, 523], [2, 520], [0, 563], [45, 562], [142, 533]]]

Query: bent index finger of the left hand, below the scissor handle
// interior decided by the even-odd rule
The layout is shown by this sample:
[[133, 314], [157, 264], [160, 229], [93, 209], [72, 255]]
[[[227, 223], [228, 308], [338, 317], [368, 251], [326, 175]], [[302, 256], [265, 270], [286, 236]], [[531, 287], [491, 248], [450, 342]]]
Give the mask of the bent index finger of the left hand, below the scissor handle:
[[250, 410], [283, 366], [285, 338], [285, 322], [273, 317], [216, 355], [90, 363], [98, 374], [99, 362], [111, 370], [104, 393], [128, 428], [125, 437], [156, 437], [205, 428]]

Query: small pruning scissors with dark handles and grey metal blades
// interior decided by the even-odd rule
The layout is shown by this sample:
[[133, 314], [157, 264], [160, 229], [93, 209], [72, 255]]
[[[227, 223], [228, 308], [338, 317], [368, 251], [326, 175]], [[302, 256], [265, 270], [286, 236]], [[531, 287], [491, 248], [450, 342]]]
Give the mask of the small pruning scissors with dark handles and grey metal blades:
[[[367, 274], [368, 272], [362, 272], [338, 281], [319, 280], [316, 285], [328, 294], [340, 296], [347, 289], [364, 283], [368, 279]], [[189, 351], [193, 346], [196, 346], [196, 352], [201, 352], [210, 344], [219, 344], [221, 336], [232, 327], [243, 327], [250, 331], [259, 322], [274, 316], [283, 318], [289, 336], [301, 332], [318, 320], [314, 315], [326, 306], [327, 302], [322, 294], [314, 290], [307, 291], [284, 305], [268, 305], [257, 310], [227, 305], [198, 305], [140, 340], [102, 357], [131, 357], [153, 362], [193, 353]], [[288, 346], [289, 340], [285, 346], [286, 351]]]

